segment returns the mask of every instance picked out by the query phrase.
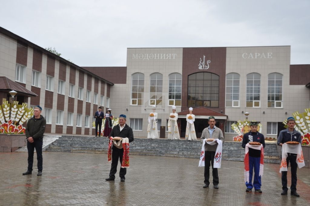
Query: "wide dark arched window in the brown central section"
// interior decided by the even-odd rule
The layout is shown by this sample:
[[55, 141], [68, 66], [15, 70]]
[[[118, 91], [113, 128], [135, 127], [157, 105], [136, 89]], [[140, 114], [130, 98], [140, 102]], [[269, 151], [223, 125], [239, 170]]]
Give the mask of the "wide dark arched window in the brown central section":
[[219, 75], [198, 72], [188, 75], [187, 106], [219, 107]]

